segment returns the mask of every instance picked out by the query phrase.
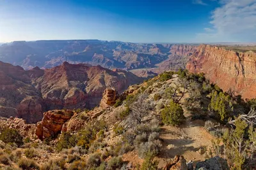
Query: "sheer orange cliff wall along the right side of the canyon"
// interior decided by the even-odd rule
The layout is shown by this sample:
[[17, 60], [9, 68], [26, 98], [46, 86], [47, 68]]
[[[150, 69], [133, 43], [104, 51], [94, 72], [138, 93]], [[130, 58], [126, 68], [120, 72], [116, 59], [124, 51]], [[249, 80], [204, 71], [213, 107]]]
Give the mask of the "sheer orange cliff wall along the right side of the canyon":
[[211, 45], [200, 45], [186, 68], [205, 77], [221, 89], [232, 90], [243, 98], [256, 97], [256, 53], [234, 52]]

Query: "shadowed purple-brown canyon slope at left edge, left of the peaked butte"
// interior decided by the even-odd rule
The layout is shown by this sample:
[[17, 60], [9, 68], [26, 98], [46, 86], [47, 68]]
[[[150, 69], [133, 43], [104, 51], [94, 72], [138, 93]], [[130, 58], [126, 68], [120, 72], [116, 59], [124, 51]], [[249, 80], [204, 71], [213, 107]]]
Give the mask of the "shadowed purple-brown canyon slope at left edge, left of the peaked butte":
[[0, 116], [19, 117], [27, 122], [42, 119], [44, 104], [40, 92], [30, 84], [26, 71], [0, 62]]

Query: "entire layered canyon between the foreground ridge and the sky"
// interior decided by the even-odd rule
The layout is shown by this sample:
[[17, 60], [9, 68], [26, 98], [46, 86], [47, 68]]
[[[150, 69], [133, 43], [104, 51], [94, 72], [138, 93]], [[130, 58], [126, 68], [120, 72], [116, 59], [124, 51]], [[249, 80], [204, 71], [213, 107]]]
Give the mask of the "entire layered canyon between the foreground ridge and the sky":
[[4, 44], [0, 46], [1, 117], [36, 123], [44, 111], [90, 109], [99, 105], [106, 87], [121, 93], [145, 78], [185, 68], [204, 73], [226, 92], [253, 99], [256, 53], [248, 46], [244, 49], [99, 40]]

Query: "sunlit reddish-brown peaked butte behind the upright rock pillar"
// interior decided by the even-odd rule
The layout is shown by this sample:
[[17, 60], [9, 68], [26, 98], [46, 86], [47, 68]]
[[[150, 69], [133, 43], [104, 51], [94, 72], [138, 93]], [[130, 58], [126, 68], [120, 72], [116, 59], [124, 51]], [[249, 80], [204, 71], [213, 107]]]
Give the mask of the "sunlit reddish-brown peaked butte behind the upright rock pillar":
[[99, 104], [106, 87], [122, 92], [141, 81], [142, 78], [120, 69], [112, 71], [101, 66], [63, 62], [61, 66], [45, 69], [44, 76], [36, 78], [33, 85], [52, 110], [93, 108]]

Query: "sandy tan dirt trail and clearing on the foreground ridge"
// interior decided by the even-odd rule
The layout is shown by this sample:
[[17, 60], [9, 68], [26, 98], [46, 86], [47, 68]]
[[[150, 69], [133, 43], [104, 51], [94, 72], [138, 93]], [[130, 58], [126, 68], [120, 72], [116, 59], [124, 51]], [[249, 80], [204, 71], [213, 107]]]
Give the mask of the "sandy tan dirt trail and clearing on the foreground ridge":
[[[181, 105], [188, 98], [185, 94]], [[200, 154], [198, 150], [212, 145], [214, 139], [209, 132], [204, 129], [204, 121], [191, 120], [191, 115], [184, 109], [186, 122], [179, 127], [164, 126], [160, 133], [163, 140], [163, 151], [159, 154], [159, 167], [165, 166], [166, 162], [173, 159], [175, 155], [183, 155], [189, 161], [196, 162], [205, 160], [205, 156]]]

